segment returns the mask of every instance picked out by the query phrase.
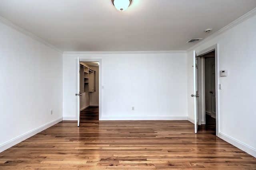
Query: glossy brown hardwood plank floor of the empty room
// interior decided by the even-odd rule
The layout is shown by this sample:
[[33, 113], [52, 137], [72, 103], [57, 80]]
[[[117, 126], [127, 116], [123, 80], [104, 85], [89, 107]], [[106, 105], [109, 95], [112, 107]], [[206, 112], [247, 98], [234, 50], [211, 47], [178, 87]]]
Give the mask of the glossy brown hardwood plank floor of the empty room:
[[82, 116], [80, 127], [76, 121], [62, 121], [1, 152], [0, 169], [256, 170], [256, 158], [204, 127], [194, 134], [189, 121], [98, 121], [96, 113]]

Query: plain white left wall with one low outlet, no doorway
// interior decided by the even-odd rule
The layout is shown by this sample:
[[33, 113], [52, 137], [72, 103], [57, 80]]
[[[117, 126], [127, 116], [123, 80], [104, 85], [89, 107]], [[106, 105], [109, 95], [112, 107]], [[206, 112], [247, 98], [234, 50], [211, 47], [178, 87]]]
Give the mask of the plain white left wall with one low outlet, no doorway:
[[62, 120], [62, 54], [4, 23], [1, 19], [0, 152]]

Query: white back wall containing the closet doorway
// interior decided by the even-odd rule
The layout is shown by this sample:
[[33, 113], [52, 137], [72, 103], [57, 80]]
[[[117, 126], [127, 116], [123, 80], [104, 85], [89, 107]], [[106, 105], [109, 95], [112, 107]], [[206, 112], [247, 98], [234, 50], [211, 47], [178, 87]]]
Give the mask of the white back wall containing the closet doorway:
[[[102, 120], [187, 119], [186, 53], [64, 53], [63, 117], [76, 119], [76, 58], [102, 59]], [[132, 111], [132, 106], [135, 110]]]

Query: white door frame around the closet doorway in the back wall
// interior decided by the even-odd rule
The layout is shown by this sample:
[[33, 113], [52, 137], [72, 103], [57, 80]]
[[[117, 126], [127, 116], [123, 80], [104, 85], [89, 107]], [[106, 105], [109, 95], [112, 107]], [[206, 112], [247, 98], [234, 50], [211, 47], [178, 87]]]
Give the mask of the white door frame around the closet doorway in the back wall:
[[[77, 58], [76, 58], [77, 59]], [[88, 59], [86, 57], [79, 57], [80, 62], [99, 62], [99, 120], [102, 119], [102, 59]], [[77, 70], [77, 69], [76, 69]], [[76, 74], [78, 74], [76, 72]], [[77, 88], [78, 80], [76, 80], [76, 88]], [[76, 90], [77, 91], [77, 90]], [[76, 110], [78, 109], [78, 100], [76, 100]], [[79, 117], [77, 117], [77, 120]]]

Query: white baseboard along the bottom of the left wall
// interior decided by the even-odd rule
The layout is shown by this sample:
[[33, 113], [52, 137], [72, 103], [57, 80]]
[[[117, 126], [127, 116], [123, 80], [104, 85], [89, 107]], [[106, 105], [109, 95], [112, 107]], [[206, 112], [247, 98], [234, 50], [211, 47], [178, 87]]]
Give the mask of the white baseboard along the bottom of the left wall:
[[27, 133], [24, 133], [23, 135], [20, 135], [10, 141], [7, 141], [6, 143], [3, 143], [2, 145], [0, 145], [0, 152], [6, 150], [6, 149], [9, 149], [10, 147], [13, 147], [14, 145], [36, 135], [37, 133], [59, 123], [60, 121], [62, 121], [62, 117], [58, 118], [58, 119], [55, 119], [49, 123], [46, 123], [36, 129], [33, 129], [32, 131], [28, 131]]

